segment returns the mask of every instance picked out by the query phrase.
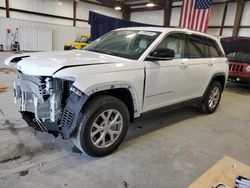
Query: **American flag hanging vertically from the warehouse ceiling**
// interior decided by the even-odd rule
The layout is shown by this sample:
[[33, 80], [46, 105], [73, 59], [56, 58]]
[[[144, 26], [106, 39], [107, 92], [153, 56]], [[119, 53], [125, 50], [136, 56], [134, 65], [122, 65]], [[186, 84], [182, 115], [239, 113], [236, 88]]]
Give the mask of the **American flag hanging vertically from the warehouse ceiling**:
[[213, 0], [183, 0], [179, 26], [207, 32]]

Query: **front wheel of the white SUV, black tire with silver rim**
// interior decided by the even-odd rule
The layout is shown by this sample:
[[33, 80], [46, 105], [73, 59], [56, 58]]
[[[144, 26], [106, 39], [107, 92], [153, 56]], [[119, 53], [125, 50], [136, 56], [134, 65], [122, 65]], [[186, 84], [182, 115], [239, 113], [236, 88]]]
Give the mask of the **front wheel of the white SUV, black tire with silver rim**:
[[126, 136], [129, 112], [112, 96], [97, 96], [87, 104], [78, 120], [73, 142], [82, 152], [101, 157], [112, 153]]

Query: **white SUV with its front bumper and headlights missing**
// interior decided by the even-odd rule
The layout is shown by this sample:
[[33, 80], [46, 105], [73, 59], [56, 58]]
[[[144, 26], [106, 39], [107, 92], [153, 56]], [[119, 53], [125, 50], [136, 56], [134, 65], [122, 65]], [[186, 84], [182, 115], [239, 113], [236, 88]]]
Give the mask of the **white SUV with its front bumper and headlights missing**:
[[[29, 126], [91, 156], [114, 151], [129, 122], [151, 110], [216, 110], [228, 64], [215, 37], [187, 29], [114, 30], [82, 51], [15, 55], [15, 99]], [[20, 99], [20, 100], [18, 100]]]

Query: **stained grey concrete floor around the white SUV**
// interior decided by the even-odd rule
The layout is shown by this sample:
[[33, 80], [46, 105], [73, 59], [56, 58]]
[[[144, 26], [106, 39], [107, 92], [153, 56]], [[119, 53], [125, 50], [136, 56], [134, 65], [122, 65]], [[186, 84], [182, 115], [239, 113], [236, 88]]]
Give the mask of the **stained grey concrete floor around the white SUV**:
[[228, 155], [250, 165], [250, 88], [229, 87], [216, 113], [184, 108], [141, 119], [119, 149], [91, 158], [27, 127], [13, 104], [16, 74], [0, 53], [0, 187], [184, 188]]

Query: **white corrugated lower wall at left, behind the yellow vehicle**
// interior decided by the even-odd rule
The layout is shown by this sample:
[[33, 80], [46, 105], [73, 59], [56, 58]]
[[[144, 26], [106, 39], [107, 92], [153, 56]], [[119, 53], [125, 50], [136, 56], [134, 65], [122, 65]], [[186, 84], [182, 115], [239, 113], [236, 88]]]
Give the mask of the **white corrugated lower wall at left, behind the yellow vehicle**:
[[[11, 29], [11, 34], [9, 35], [6, 31], [7, 28]], [[20, 41], [22, 42], [21, 47], [24, 47], [24, 49], [27, 50], [36, 49], [34, 51], [51, 49], [63, 50], [65, 42], [72, 41], [77, 36], [90, 32], [89, 28], [70, 27], [12, 18], [0, 18], [0, 44], [4, 45], [4, 49], [10, 49], [10, 43], [16, 28], [19, 28], [19, 38], [20, 36], [23, 36], [24, 38], [26, 37], [26, 39], [22, 38], [22, 41]], [[20, 34], [22, 30], [24, 33]], [[38, 32], [38, 30], [40, 31]], [[49, 31], [52, 31], [52, 36], [47, 33]], [[25, 32], [30, 33], [27, 35]], [[28, 44], [29, 41], [34, 41], [34, 44]], [[50, 44], [47, 44], [47, 42], [50, 42]]]

